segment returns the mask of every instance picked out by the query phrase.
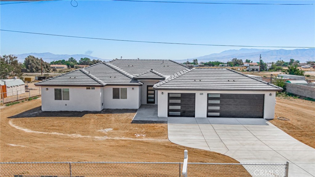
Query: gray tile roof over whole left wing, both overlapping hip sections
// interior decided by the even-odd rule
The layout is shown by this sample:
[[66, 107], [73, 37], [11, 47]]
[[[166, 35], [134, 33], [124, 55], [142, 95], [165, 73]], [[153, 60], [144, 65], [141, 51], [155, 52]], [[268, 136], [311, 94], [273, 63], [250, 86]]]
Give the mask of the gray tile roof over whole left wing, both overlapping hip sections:
[[37, 86], [95, 86], [105, 85], [143, 85], [126, 71], [110, 63], [97, 63], [35, 83]]

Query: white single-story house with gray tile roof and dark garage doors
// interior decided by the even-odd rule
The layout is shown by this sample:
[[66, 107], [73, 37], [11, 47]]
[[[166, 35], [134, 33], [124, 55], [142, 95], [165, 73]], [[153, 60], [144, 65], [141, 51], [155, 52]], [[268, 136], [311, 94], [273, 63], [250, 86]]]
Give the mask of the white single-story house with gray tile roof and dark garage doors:
[[158, 117], [274, 117], [282, 88], [225, 68], [172, 60], [112, 60], [35, 84], [43, 111], [101, 111], [157, 105]]

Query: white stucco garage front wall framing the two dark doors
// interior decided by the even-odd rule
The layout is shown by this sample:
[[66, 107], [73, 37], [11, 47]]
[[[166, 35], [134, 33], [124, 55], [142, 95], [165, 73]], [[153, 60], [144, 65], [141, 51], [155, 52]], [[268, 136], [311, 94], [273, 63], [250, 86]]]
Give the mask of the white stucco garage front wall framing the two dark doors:
[[[163, 92], [163, 95], [162, 95]], [[216, 94], [265, 94], [264, 118], [273, 119], [275, 112], [276, 92], [266, 91], [191, 91], [191, 90], [158, 90], [158, 117], [167, 117], [168, 93], [196, 93], [195, 117], [207, 117], [207, 95]], [[203, 93], [203, 95], [200, 95]], [[272, 94], [272, 96], [269, 96]]]

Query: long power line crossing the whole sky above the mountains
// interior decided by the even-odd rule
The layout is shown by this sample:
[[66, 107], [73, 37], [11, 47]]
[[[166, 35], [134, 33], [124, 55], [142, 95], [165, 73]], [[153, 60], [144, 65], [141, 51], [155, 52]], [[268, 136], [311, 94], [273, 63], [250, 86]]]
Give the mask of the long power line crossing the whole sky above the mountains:
[[201, 45], [201, 46], [228, 46], [228, 47], [315, 48], [315, 47], [299, 47], [299, 46], [292, 47], [292, 46], [252, 46], [252, 45], [218, 45], [218, 44], [195, 44], [195, 43], [167, 43], [167, 42], [152, 42], [152, 41], [106, 39], [106, 38], [98, 38], [98, 37], [67, 36], [67, 35], [58, 35], [58, 34], [46, 34], [46, 33], [12, 31], [12, 30], [0, 30], [0, 31], [9, 31], [9, 32], [27, 33], [27, 34], [39, 34], [39, 35], [48, 35], [48, 36], [60, 36], [60, 37], [74, 37], [74, 38], [83, 38], [83, 39], [98, 39], [98, 40], [109, 40], [109, 41], [137, 42], [137, 43], [159, 43], [159, 44], [180, 44], [180, 45]]

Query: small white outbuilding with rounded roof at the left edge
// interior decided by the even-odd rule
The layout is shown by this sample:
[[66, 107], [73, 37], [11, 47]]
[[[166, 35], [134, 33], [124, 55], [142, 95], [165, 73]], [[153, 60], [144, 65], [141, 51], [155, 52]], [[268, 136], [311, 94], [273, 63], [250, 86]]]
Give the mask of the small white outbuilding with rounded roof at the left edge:
[[0, 85], [1, 98], [25, 93], [25, 83], [17, 77], [14, 77], [13, 79], [0, 80]]

